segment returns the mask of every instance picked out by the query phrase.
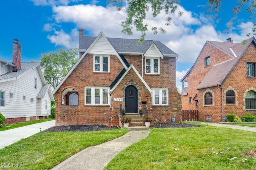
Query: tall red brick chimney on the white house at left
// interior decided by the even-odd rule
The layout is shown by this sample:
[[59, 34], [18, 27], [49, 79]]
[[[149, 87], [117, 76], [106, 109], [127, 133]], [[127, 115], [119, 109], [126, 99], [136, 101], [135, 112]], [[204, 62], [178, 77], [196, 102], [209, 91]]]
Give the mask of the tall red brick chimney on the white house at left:
[[12, 71], [18, 71], [21, 69], [21, 45], [18, 39], [14, 39], [12, 43], [12, 64], [15, 67], [12, 68]]

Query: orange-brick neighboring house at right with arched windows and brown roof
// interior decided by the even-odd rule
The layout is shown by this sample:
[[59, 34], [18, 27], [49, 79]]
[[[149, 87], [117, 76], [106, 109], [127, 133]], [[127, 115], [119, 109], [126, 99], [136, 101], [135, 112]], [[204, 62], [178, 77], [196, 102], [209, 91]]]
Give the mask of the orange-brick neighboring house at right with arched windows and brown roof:
[[256, 115], [256, 40], [206, 41], [182, 78], [182, 110], [198, 110], [200, 121], [222, 121], [234, 112]]

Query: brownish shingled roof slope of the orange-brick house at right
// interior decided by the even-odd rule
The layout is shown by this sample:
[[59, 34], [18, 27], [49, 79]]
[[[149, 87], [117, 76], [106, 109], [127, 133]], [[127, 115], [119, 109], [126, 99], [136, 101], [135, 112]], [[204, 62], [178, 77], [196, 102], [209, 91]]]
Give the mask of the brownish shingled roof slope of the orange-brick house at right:
[[226, 80], [230, 72], [232, 72], [233, 68], [236, 66], [237, 62], [241, 59], [242, 55], [251, 43], [256, 45], [256, 39], [254, 37], [247, 39], [246, 44], [243, 44], [242, 42], [233, 46], [231, 49], [237, 57], [212, 66], [196, 89], [221, 85]]

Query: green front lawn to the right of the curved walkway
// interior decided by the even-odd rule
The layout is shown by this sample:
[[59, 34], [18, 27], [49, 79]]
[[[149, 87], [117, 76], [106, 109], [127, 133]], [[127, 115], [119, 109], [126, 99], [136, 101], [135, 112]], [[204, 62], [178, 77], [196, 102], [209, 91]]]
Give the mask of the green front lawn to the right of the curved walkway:
[[120, 152], [105, 170], [251, 170], [254, 158], [240, 154], [255, 149], [254, 132], [212, 126], [150, 129], [146, 139]]

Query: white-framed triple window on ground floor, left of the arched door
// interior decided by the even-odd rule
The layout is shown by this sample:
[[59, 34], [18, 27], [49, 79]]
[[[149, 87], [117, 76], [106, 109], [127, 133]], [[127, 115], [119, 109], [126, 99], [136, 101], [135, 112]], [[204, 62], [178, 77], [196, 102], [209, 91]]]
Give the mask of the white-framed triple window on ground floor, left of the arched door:
[[[86, 97], [87, 97], [87, 93], [86, 93], [86, 90], [87, 89], [91, 89], [91, 103], [87, 104], [87, 100], [86, 100]], [[100, 103], [99, 104], [96, 104], [95, 103], [95, 89], [100, 89]], [[106, 89], [107, 90], [107, 97], [108, 97], [108, 100], [107, 100], [107, 104], [104, 104], [103, 100], [104, 100], [104, 96], [103, 96], [103, 89]], [[110, 105], [110, 95], [109, 95], [109, 87], [85, 87], [84, 88], [84, 105]]]

